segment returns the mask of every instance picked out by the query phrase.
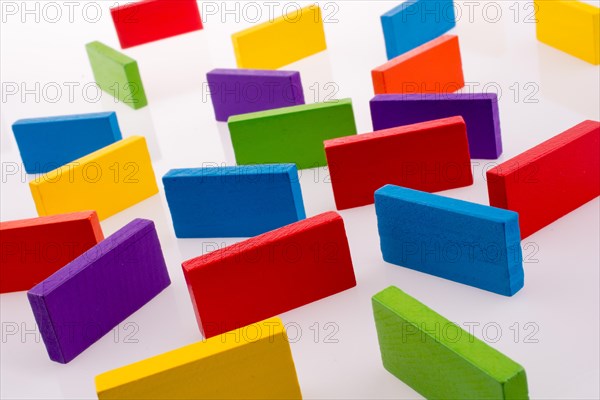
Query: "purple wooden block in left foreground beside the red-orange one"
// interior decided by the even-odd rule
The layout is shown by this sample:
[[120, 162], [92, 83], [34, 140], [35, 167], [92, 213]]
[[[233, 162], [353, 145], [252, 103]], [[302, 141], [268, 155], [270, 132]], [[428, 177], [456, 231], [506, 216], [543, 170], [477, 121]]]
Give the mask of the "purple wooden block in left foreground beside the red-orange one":
[[154, 222], [135, 219], [27, 297], [50, 359], [66, 364], [170, 284]]

